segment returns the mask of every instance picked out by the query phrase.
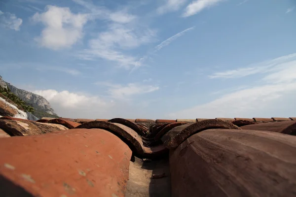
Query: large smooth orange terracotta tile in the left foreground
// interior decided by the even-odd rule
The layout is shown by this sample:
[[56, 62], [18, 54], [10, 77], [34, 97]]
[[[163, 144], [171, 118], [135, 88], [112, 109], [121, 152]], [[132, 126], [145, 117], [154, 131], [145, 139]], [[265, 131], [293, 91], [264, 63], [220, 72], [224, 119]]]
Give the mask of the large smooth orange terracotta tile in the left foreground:
[[1, 195], [124, 197], [131, 155], [124, 142], [100, 129], [3, 138]]

